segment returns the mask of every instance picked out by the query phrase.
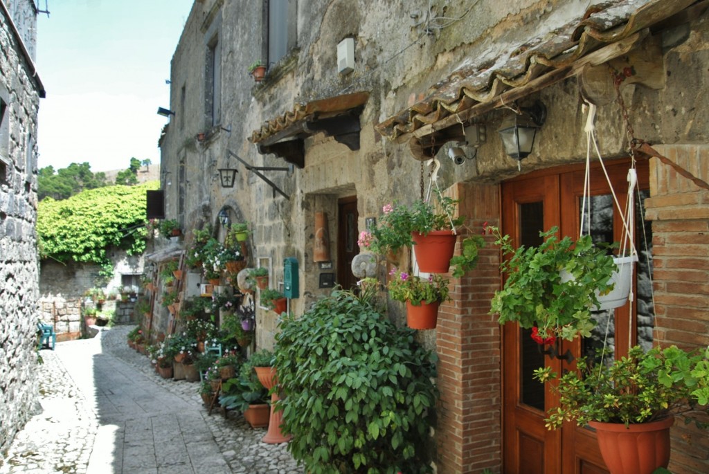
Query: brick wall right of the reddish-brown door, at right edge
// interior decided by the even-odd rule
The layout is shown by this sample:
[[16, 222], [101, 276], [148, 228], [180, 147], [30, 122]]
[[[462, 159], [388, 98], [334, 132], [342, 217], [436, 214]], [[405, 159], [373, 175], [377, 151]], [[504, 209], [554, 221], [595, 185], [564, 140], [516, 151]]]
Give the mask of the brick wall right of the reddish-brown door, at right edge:
[[[672, 162], [709, 181], [709, 146], [655, 146]], [[654, 340], [683, 349], [709, 345], [709, 190], [674, 169], [650, 160]], [[671, 472], [709, 473], [709, 435], [676, 422], [672, 429]]]

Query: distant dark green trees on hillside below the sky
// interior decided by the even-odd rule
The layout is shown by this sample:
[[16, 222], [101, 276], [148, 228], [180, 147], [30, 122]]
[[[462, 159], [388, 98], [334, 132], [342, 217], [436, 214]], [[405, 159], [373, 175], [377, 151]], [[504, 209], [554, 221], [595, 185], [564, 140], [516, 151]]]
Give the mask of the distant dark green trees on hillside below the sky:
[[37, 197], [40, 201], [48, 197], [61, 201], [82, 191], [103, 186], [106, 186], [106, 174], [91, 172], [88, 162], [69, 164], [56, 173], [54, 167], [44, 167], [40, 169], [37, 178]]

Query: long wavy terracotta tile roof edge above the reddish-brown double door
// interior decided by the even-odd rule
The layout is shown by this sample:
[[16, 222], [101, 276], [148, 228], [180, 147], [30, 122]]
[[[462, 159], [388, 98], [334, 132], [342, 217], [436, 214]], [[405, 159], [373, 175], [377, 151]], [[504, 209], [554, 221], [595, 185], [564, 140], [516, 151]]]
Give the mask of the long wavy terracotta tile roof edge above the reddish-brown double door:
[[[583, 16], [524, 43], [499, 45], [467, 60], [428, 96], [375, 126], [384, 137], [405, 141], [424, 125], [493, 101], [508, 89], [525, 86], [554, 69], [562, 69], [600, 47], [629, 37], [677, 13], [693, 0], [610, 0]], [[539, 28], [544, 31], [545, 29]]]

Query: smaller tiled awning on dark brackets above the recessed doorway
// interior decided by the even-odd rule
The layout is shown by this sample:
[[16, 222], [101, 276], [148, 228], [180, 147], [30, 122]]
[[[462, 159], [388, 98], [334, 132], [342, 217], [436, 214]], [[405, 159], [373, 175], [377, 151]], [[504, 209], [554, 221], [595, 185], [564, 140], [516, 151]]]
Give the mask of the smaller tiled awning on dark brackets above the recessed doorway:
[[368, 92], [356, 92], [297, 103], [290, 111], [267, 120], [259, 130], [254, 130], [249, 141], [258, 146], [259, 153], [277, 154], [299, 168], [305, 166], [303, 141], [319, 132], [357, 150], [362, 129], [359, 114], [368, 98]]

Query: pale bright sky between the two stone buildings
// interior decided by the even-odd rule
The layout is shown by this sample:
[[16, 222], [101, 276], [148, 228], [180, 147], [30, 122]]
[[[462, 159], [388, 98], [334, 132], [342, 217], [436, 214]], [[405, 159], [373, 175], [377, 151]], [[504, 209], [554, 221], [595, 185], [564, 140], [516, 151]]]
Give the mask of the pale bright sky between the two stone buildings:
[[38, 0], [38, 167], [160, 162], [170, 60], [193, 0]]

